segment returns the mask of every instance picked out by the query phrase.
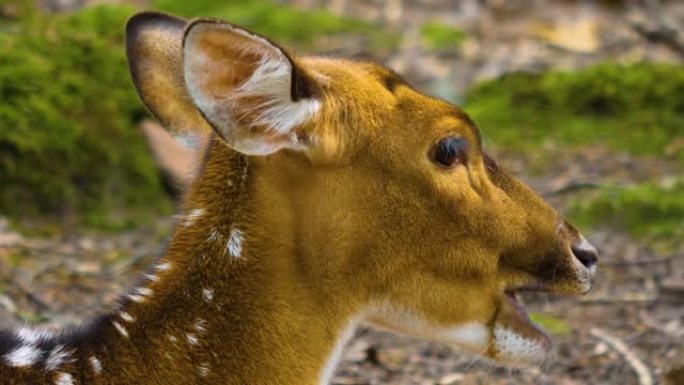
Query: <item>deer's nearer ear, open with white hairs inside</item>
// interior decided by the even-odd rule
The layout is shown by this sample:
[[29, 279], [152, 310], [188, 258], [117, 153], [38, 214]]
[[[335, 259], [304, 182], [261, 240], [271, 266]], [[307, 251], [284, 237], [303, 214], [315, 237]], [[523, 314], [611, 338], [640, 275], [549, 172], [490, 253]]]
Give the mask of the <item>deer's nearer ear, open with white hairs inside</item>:
[[304, 149], [297, 129], [320, 103], [314, 81], [282, 48], [227, 23], [196, 20], [185, 31], [183, 73], [197, 109], [234, 149]]

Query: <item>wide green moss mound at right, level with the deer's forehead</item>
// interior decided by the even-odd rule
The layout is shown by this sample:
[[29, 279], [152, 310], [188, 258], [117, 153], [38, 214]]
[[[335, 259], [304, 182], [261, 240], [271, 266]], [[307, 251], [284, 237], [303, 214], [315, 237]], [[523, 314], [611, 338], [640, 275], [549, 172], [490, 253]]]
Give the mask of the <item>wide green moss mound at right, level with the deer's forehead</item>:
[[[577, 72], [515, 73], [477, 84], [465, 108], [502, 146], [601, 143], [662, 155], [684, 137], [684, 68], [603, 63]], [[684, 161], [684, 151], [670, 151]]]

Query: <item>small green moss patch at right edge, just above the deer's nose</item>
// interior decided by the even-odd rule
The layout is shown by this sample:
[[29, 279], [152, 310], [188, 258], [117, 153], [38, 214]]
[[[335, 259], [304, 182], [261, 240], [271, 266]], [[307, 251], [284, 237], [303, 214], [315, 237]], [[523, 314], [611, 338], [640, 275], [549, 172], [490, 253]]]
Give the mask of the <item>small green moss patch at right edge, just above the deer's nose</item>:
[[580, 225], [607, 225], [655, 241], [684, 240], [684, 181], [606, 187], [578, 200], [570, 218]]

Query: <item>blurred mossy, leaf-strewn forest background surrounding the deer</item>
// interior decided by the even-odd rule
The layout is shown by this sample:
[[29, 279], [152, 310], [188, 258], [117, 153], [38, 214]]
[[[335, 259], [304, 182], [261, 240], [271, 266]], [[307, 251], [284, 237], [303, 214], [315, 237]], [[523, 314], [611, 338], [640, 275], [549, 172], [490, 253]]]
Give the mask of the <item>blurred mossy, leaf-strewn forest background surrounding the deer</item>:
[[194, 154], [145, 120], [130, 81], [123, 26], [142, 9], [384, 63], [462, 105], [601, 250], [588, 296], [526, 297], [558, 343], [550, 367], [362, 328], [334, 384], [684, 384], [675, 0], [0, 0], [0, 320], [88, 318], [163, 250]]

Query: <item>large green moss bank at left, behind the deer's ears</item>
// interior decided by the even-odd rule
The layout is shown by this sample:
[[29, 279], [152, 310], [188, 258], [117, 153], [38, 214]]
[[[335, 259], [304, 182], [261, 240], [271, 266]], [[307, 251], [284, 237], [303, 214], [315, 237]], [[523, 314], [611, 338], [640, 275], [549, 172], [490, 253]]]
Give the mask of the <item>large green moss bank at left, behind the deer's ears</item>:
[[128, 74], [128, 6], [0, 23], [0, 212], [75, 214], [118, 228], [167, 212], [136, 122]]

